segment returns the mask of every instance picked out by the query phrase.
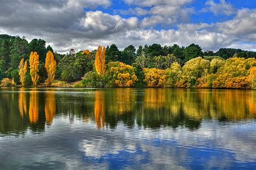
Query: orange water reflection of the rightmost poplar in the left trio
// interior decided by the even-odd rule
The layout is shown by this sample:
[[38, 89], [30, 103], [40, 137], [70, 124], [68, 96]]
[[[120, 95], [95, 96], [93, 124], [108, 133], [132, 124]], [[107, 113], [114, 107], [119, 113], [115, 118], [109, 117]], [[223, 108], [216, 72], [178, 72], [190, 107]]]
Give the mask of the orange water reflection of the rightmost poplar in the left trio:
[[45, 93], [45, 118], [46, 123], [51, 124], [53, 120], [53, 116], [56, 112], [56, 103], [55, 103], [55, 93], [54, 92], [46, 92]]

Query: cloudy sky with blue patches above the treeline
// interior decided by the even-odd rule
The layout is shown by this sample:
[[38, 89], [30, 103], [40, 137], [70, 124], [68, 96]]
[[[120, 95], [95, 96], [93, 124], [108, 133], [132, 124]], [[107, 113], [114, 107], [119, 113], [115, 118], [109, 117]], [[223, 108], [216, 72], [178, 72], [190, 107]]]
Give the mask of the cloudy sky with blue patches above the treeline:
[[0, 34], [59, 53], [153, 43], [256, 51], [256, 0], [1, 0]]

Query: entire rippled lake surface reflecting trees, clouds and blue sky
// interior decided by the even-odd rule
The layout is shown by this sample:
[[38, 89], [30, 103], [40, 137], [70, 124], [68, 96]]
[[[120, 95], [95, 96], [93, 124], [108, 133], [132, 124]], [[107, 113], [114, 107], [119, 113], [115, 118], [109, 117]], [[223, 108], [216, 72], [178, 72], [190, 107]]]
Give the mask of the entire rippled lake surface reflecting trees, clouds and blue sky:
[[0, 169], [255, 169], [256, 91], [0, 89]]

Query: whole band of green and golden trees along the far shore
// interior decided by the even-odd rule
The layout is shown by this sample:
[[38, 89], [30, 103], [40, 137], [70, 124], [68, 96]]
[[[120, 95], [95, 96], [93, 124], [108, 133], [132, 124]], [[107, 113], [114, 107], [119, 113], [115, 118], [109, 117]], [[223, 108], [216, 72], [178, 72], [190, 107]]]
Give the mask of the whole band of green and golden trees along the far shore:
[[197, 44], [98, 46], [60, 54], [43, 39], [0, 35], [2, 86], [256, 89], [256, 52]]

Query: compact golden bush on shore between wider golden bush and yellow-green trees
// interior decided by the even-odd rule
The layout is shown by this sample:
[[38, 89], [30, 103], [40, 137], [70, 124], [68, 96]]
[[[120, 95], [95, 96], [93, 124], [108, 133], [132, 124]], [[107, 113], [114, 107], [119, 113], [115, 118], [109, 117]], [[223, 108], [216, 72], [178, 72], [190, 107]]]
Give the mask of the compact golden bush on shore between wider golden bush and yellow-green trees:
[[152, 69], [143, 69], [145, 79], [143, 82], [148, 87], [162, 87], [166, 81], [165, 70], [160, 70], [156, 68]]

